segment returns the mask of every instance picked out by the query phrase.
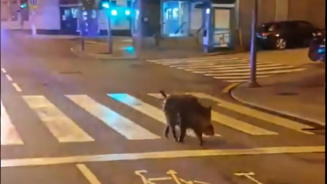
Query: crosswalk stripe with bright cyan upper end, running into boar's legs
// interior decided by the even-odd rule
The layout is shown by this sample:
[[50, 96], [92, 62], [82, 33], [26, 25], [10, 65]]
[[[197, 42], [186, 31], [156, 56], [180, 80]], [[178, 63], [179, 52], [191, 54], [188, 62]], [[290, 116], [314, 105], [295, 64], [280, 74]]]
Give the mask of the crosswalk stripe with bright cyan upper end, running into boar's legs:
[[[131, 107], [141, 113], [144, 113], [147, 116], [149, 116], [161, 123], [164, 123], [165, 125], [167, 124], [165, 113], [161, 109], [159, 109], [155, 106], [147, 104], [147, 103], [145, 103], [141, 100], [138, 100], [137, 98], [132, 97], [128, 94], [107, 94], [107, 95], [110, 98], [112, 98], [113, 100], [116, 100], [120, 103], [128, 105], [129, 107]], [[196, 137], [195, 133], [191, 130], [187, 130], [186, 134], [189, 136]], [[206, 136], [206, 135], [203, 135], [203, 136]], [[221, 136], [221, 135], [215, 134], [215, 136]]]

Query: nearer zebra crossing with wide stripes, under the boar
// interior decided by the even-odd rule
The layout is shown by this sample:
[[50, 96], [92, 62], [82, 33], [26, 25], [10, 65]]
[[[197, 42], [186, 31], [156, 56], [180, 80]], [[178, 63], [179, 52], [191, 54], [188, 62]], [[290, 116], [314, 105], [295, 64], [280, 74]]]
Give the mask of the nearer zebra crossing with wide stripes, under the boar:
[[[272, 114], [251, 109], [246, 106], [234, 104], [223, 99], [207, 95], [205, 93], [189, 93], [199, 99], [209, 100], [217, 106], [226, 108], [230, 111], [235, 111], [244, 116], [259, 119], [267, 124], [280, 126], [297, 131], [302, 134], [314, 134], [303, 129], [312, 129], [313, 127], [301, 124], [296, 121], [285, 119], [282, 117], [273, 116]], [[83, 110], [85, 113], [91, 114], [99, 121], [103, 122], [108, 129], [111, 129], [124, 137], [127, 140], [155, 140], [162, 137], [161, 134], [156, 134], [151, 131], [151, 127], [139, 125], [137, 121], [128, 119], [119, 111], [111, 109], [110, 105], [103, 105], [88, 95], [64, 95], [67, 103], [73, 103], [76, 108]], [[151, 125], [165, 125], [166, 118], [164, 112], [156, 105], [149, 104], [142, 98], [136, 98], [131, 94], [106, 94], [107, 99], [111, 99], [119, 104], [126, 105], [129, 109], [150, 117], [153, 121]], [[144, 98], [152, 100], [161, 99], [160, 94], [145, 94]], [[43, 95], [21, 96], [21, 99], [28, 105], [29, 109], [36, 114], [37, 118], [42, 122], [40, 126], [49, 129], [58, 143], [81, 143], [94, 142], [96, 137], [91, 137], [87, 131], [80, 128], [78, 122], [74, 122], [64, 111], [60, 110], [51, 100]], [[242, 121], [235, 117], [229, 117], [224, 113], [212, 110], [212, 120], [215, 126], [226, 126], [237, 132], [242, 132], [251, 136], [276, 136], [279, 134], [276, 130], [272, 131], [263, 127], [255, 126], [251, 121]], [[92, 123], [92, 122], [89, 122]], [[216, 130], [215, 136], [221, 137], [219, 129]], [[36, 133], [36, 132], [35, 132]], [[188, 131], [189, 136], [195, 136], [194, 132]], [[3, 101], [1, 100], [1, 145], [25, 145], [24, 137], [19, 135], [15, 122], [12, 122]]]

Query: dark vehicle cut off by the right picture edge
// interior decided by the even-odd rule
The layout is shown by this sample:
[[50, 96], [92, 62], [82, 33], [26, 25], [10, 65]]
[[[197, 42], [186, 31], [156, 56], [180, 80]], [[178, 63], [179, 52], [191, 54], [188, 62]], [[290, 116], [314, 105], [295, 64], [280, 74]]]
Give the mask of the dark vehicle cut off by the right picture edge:
[[326, 32], [322, 30], [321, 32], [313, 33], [313, 39], [310, 42], [308, 56], [312, 61], [323, 61], [325, 62], [326, 54], [326, 41], [325, 41]]

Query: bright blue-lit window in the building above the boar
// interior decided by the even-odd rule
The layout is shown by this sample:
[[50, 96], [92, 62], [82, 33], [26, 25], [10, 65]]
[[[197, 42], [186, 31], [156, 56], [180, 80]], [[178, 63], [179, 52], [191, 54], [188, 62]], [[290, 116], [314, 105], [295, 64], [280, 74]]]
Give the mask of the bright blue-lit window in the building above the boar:
[[166, 1], [161, 4], [161, 34], [166, 37], [188, 36], [190, 33], [189, 3]]

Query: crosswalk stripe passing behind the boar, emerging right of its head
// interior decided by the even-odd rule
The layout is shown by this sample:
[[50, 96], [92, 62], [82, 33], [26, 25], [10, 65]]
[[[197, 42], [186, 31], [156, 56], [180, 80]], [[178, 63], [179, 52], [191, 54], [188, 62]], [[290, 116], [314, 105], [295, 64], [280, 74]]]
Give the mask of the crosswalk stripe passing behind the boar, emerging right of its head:
[[[148, 95], [155, 98], [160, 98], [159, 94], [148, 94]], [[213, 110], [211, 111], [211, 118], [213, 121], [217, 123], [220, 123], [232, 129], [236, 129], [251, 135], [278, 135], [278, 133], [276, 132], [254, 126], [234, 118], [230, 118], [228, 116], [225, 116], [224, 114], [221, 114]]]

